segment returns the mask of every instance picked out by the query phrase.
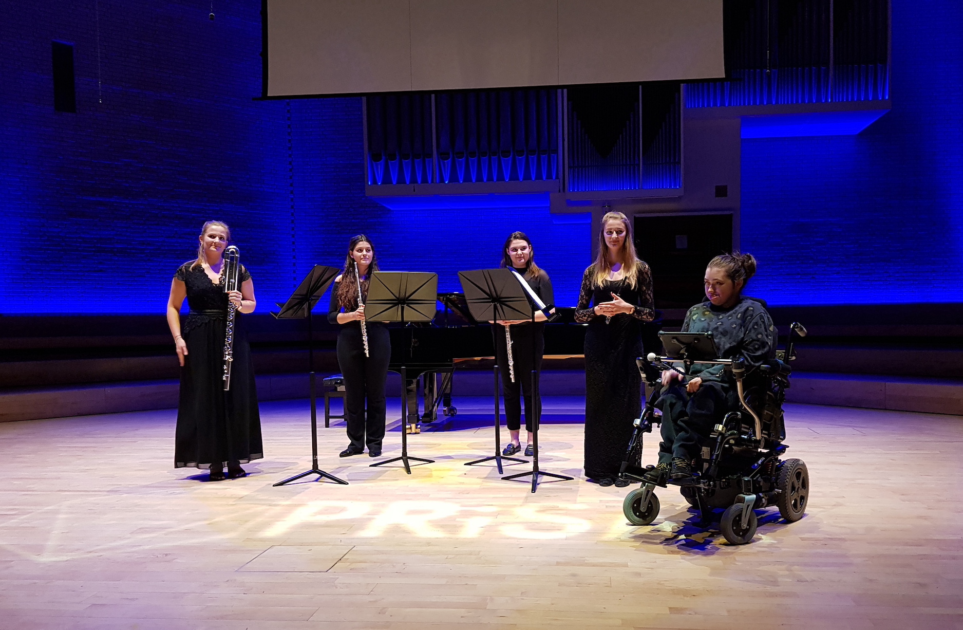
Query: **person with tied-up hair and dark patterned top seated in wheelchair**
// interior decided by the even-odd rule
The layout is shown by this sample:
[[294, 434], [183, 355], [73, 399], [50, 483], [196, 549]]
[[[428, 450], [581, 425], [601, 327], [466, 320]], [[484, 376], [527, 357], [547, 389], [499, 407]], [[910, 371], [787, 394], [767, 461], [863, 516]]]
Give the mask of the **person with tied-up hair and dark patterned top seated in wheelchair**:
[[[746, 282], [756, 272], [756, 259], [739, 252], [716, 256], [706, 268], [706, 302], [686, 313], [683, 332], [712, 332], [721, 358], [745, 359], [747, 372], [773, 359], [776, 328], [761, 302], [742, 297]], [[662, 438], [659, 463], [645, 474], [646, 481], [664, 486], [668, 481], [687, 485], [692, 481], [693, 460], [713, 427], [731, 410], [739, 408], [739, 396], [731, 373], [722, 365], [695, 364], [684, 377], [664, 371]], [[688, 381], [687, 381], [688, 379]]]

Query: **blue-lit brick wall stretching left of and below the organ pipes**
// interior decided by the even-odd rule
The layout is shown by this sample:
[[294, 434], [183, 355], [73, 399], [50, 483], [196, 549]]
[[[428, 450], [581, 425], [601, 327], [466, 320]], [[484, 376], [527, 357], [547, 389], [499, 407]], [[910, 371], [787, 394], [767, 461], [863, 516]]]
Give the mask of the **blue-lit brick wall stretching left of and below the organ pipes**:
[[[209, 7], [7, 9], [0, 314], [162, 313], [173, 271], [214, 218], [231, 225], [264, 310], [312, 265], [340, 265], [357, 232], [375, 240], [385, 269], [436, 271], [455, 290], [457, 271], [497, 265], [522, 229], [559, 302], [574, 303], [588, 223], [553, 221], [547, 197], [411, 211], [365, 197], [361, 99], [253, 100], [260, 3], [215, 0], [213, 21]], [[51, 39], [75, 46], [76, 114], [53, 111]]]

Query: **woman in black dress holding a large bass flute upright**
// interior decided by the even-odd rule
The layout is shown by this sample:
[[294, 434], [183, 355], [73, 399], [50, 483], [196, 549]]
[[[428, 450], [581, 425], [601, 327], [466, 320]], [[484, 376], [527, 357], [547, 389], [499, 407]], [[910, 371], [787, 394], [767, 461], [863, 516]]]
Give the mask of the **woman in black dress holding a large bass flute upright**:
[[[170, 283], [168, 326], [181, 364], [180, 402], [174, 441], [174, 468], [208, 468], [211, 481], [247, 475], [241, 467], [264, 457], [261, 417], [257, 408], [254, 370], [244, 329], [244, 316], [257, 302], [254, 283], [241, 268], [241, 290], [224, 293], [221, 275], [230, 230], [221, 222], [204, 223], [197, 258], [177, 269]], [[187, 298], [191, 312], [180, 322]], [[224, 391], [223, 352], [227, 302], [237, 307], [234, 320], [234, 362], [231, 388]]]

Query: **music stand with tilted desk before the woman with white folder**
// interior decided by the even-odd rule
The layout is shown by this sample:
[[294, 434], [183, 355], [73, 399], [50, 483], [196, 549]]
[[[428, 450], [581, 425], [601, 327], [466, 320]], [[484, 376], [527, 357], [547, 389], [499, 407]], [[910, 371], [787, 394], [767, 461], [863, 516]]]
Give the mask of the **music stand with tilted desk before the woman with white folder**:
[[[461, 290], [465, 293], [465, 302], [468, 303], [468, 310], [472, 317], [479, 322], [495, 322], [498, 320], [517, 320], [529, 319], [534, 317], [532, 304], [529, 303], [525, 290], [518, 283], [508, 269], [481, 269], [471, 272], [458, 272], [458, 279], [461, 280]], [[491, 327], [491, 342], [495, 349], [495, 455], [475, 459], [465, 463], [466, 466], [474, 466], [485, 461], [495, 460], [498, 466], [498, 474], [505, 471], [502, 469], [502, 459], [517, 461], [518, 463], [528, 463], [528, 459], [509, 458], [502, 455], [502, 417], [500, 407], [500, 392], [498, 387], [498, 341], [495, 338], [495, 325]]]

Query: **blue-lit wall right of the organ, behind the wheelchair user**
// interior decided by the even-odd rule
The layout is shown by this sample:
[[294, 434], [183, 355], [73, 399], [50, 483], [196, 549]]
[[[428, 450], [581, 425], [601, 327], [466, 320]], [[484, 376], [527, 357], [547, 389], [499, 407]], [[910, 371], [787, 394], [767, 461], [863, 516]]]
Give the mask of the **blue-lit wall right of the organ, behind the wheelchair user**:
[[742, 249], [773, 304], [960, 302], [963, 3], [893, 2], [892, 111], [742, 141]]

